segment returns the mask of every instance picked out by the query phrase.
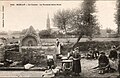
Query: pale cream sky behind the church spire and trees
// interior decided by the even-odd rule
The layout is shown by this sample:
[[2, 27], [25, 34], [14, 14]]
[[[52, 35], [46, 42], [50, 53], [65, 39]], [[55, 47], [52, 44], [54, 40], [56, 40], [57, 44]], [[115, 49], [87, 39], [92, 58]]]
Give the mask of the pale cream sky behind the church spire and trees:
[[[21, 31], [30, 26], [38, 30], [46, 29], [48, 14], [51, 27], [53, 27], [52, 18], [58, 10], [79, 8], [81, 3], [82, 1], [0, 1], [0, 31]], [[2, 27], [3, 5], [4, 28]], [[116, 30], [115, 8], [115, 1], [101, 0], [96, 2], [96, 16], [102, 29]]]

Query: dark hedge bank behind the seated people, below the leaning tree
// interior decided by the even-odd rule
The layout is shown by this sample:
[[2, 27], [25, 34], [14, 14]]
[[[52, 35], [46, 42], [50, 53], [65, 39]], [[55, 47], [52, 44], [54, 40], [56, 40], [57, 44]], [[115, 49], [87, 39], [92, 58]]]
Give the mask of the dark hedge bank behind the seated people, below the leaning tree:
[[[108, 42], [87, 41], [87, 42], [79, 42], [77, 44], [77, 47], [79, 47], [79, 50], [83, 52], [88, 51], [89, 48], [93, 50], [95, 48], [98, 48], [99, 51], [106, 51], [109, 50], [113, 45], [118, 47], [119, 44], [120, 44], [119, 41], [108, 41]], [[71, 45], [73, 45], [73, 43], [63, 45], [63, 49], [62, 49], [63, 54], [66, 54], [71, 50], [72, 47]]]

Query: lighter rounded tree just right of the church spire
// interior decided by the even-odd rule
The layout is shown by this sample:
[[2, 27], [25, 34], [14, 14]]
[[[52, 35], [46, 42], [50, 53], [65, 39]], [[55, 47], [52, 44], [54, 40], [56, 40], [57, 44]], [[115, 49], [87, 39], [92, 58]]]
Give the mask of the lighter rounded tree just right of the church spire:
[[59, 10], [56, 14], [54, 14], [53, 22], [54, 26], [58, 27], [61, 30], [64, 30], [67, 33], [67, 29], [69, 28], [70, 18], [72, 17], [71, 10]]

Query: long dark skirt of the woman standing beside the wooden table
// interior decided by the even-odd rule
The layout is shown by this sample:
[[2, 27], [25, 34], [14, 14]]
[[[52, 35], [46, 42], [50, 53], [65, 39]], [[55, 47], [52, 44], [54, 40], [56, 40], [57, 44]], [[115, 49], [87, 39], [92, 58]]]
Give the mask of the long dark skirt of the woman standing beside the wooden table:
[[81, 72], [81, 63], [80, 60], [73, 60], [73, 72], [80, 73]]

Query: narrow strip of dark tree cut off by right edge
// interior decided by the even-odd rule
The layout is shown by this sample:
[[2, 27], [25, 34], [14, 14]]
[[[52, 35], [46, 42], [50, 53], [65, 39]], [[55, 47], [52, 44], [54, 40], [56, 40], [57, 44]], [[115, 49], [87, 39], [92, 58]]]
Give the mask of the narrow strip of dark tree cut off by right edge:
[[117, 28], [117, 34], [120, 35], [120, 0], [117, 0], [116, 2], [117, 12], [115, 14], [115, 21], [118, 26]]

